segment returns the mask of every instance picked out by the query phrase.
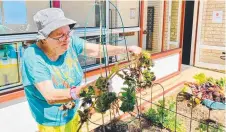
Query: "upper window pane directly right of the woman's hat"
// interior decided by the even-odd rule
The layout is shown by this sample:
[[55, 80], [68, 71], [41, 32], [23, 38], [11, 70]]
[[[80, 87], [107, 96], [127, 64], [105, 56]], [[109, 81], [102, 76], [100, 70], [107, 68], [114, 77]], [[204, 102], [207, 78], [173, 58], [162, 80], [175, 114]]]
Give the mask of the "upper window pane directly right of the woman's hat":
[[[101, 17], [100, 7], [103, 14]], [[77, 21], [79, 27], [99, 27], [100, 18], [103, 20], [102, 26], [105, 26], [105, 1], [61, 1], [61, 8], [66, 17]]]

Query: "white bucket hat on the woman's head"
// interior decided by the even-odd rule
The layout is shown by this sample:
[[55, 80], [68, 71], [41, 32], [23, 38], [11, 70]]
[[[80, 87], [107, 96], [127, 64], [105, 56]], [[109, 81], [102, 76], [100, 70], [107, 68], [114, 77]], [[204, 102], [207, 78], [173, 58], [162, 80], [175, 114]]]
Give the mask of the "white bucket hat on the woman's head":
[[46, 39], [52, 31], [62, 26], [69, 25], [73, 28], [77, 25], [76, 21], [66, 18], [60, 8], [40, 10], [33, 16], [33, 19], [38, 28], [38, 40]]

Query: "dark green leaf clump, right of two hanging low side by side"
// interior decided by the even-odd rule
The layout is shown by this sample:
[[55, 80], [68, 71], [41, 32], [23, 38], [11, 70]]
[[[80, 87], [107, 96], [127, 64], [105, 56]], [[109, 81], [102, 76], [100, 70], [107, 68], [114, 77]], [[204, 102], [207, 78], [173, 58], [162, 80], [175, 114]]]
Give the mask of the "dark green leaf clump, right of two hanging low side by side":
[[120, 110], [123, 112], [130, 112], [134, 110], [134, 105], [136, 103], [136, 93], [134, 89], [131, 88], [122, 88], [124, 91], [122, 92], [121, 101], [122, 105]]

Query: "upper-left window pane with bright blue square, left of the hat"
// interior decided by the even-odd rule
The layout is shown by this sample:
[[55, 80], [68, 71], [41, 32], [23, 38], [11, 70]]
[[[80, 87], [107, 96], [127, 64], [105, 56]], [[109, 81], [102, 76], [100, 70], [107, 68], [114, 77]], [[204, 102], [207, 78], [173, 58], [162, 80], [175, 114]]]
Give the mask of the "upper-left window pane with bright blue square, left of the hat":
[[37, 32], [33, 16], [49, 1], [0, 1], [0, 34]]

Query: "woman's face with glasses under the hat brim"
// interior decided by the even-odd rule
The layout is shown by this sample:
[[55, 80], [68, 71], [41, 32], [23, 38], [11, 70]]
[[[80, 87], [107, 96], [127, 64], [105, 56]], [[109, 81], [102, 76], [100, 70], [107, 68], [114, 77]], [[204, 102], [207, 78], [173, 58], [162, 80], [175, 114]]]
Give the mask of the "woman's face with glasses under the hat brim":
[[69, 48], [70, 33], [69, 26], [63, 26], [52, 31], [46, 39], [47, 48], [56, 55], [64, 54]]

